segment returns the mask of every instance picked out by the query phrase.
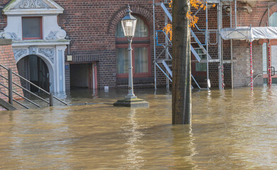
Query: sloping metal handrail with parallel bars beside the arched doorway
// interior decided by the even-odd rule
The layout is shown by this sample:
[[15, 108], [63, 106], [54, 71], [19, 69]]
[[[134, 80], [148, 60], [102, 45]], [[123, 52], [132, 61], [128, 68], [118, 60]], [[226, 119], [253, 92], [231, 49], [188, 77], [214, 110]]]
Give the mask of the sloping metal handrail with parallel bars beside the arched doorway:
[[[59, 101], [60, 103], [62, 103], [65, 106], [68, 105], [66, 102], [62, 101], [60, 98], [57, 98], [53, 94], [50, 94], [49, 92], [45, 91], [44, 89], [40, 88], [39, 86], [33, 84], [32, 82], [28, 81], [28, 79], [25, 79], [24, 77], [21, 77], [20, 75], [16, 74], [15, 72], [12, 72], [11, 69], [8, 69], [7, 67], [4, 67], [4, 65], [0, 64], [0, 69], [6, 70], [6, 72], [8, 74], [8, 77], [5, 77], [4, 75], [0, 74], [0, 77], [2, 77], [4, 80], [6, 80], [9, 84], [9, 86], [6, 86], [2, 82], [0, 83], [0, 86], [3, 86], [5, 89], [8, 89], [8, 91], [9, 91], [8, 94], [5, 94], [4, 91], [0, 90], [0, 94], [2, 94], [4, 96], [6, 96], [7, 98], [9, 98], [9, 102], [6, 102], [4, 100], [0, 100], [0, 106], [6, 108], [7, 110], [14, 110], [13, 108], [15, 108], [15, 106], [13, 105], [13, 102], [17, 103], [19, 106], [22, 106], [23, 108], [29, 109], [29, 107], [26, 104], [23, 104], [23, 102], [19, 102], [16, 99], [14, 99], [13, 94], [16, 94], [16, 96], [19, 96], [19, 98], [23, 98], [24, 101], [32, 104], [35, 107], [38, 107], [38, 108], [42, 107], [38, 103], [35, 103], [35, 100], [27, 98], [26, 96], [23, 96], [20, 93], [16, 92], [15, 89], [13, 88], [13, 85], [17, 86], [19, 89], [22, 89], [22, 91], [26, 91], [26, 93], [30, 94], [30, 96], [33, 96], [33, 97], [39, 99], [40, 101], [43, 101], [43, 102], [47, 103], [47, 106], [53, 106], [54, 105], [54, 99]], [[38, 96], [37, 94], [34, 94], [33, 92], [29, 91], [25, 87], [21, 86], [20, 84], [17, 84], [15, 81], [13, 81], [14, 76], [18, 77], [19, 79], [21, 79], [23, 81], [26, 81], [28, 84], [34, 86], [39, 91], [43, 92], [44, 96], [46, 95], [46, 97], [49, 98], [49, 100], [47, 101], [42, 96]]]

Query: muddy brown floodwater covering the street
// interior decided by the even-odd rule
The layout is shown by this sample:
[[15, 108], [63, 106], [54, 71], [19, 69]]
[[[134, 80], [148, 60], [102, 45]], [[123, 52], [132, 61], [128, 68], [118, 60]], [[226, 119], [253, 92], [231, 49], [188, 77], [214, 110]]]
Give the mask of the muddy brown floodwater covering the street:
[[0, 169], [277, 169], [277, 86], [193, 91], [191, 125], [171, 125], [164, 89], [135, 90], [149, 108], [91, 94], [67, 102], [101, 104], [0, 112]]

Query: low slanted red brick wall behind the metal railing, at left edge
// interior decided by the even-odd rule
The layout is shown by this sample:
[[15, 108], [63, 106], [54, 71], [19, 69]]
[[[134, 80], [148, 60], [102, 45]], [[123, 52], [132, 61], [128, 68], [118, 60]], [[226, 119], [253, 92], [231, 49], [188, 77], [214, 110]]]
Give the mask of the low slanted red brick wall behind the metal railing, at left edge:
[[[18, 70], [16, 67], [16, 60], [14, 59], [13, 50], [11, 48], [11, 40], [0, 39], [0, 64], [4, 65], [4, 67], [12, 69], [13, 72], [16, 72], [18, 74]], [[0, 74], [8, 78], [8, 72], [6, 71], [6, 69], [2, 67], [0, 67]], [[14, 75], [13, 75], [13, 81], [15, 81], [16, 84], [21, 84], [19, 78], [15, 77]], [[3, 77], [0, 77], [0, 83], [4, 84], [5, 86], [9, 86], [8, 81], [6, 81], [6, 79], [4, 79]], [[6, 89], [4, 86], [0, 85], [0, 90], [7, 95], [9, 94], [8, 93], [9, 90]], [[13, 85], [13, 90], [18, 92], [18, 94], [23, 95], [22, 89], [19, 89], [15, 85]], [[3, 99], [8, 99], [6, 96], [2, 94], [0, 94], [0, 97]], [[13, 94], [13, 98], [18, 99], [20, 98], [20, 96], [16, 96], [16, 94]]]

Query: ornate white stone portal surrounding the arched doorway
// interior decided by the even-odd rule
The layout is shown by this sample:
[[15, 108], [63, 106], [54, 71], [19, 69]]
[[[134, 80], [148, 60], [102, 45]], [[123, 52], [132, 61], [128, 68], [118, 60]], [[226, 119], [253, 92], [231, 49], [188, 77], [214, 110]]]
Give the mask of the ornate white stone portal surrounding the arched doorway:
[[[64, 50], [69, 45], [67, 33], [57, 24], [57, 15], [64, 9], [52, 0], [13, 0], [3, 13], [8, 24], [0, 38], [13, 40], [16, 62], [28, 55], [40, 57], [50, 73], [50, 92], [65, 91]], [[40, 18], [41, 38], [23, 38], [23, 18]]]

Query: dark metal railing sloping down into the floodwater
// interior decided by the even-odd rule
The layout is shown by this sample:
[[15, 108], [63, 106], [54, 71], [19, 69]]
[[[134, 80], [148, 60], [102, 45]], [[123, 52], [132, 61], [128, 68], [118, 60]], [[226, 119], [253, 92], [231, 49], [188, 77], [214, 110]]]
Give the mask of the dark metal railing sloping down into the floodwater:
[[[4, 88], [9, 90], [9, 95], [5, 94], [3, 91], [0, 91], [0, 94], [3, 94], [7, 98], [9, 98], [9, 103], [11, 105], [13, 105], [13, 101], [14, 101], [14, 102], [18, 103], [19, 105], [23, 106], [24, 108], [28, 109], [28, 106], [25, 106], [23, 103], [20, 103], [20, 102], [16, 101], [15, 99], [13, 99], [13, 94], [16, 94], [17, 96], [20, 96], [21, 98], [25, 99], [29, 103], [32, 103], [34, 106], [37, 106], [38, 108], [41, 108], [40, 105], [38, 105], [37, 103], [31, 101], [29, 98], [26, 98], [25, 96], [22, 96], [21, 94], [18, 94], [18, 92], [13, 91], [13, 84], [14, 84], [14, 85], [18, 86], [19, 88], [21, 88], [23, 91], [26, 91], [29, 94], [31, 94], [31, 95], [35, 96], [36, 98], [40, 99], [40, 101], [43, 101], [43, 102], [47, 103], [47, 106], [53, 106], [54, 105], [54, 98], [57, 101], [60, 101], [60, 103], [63, 103], [64, 105], [68, 106], [68, 104], [66, 102], [62, 101], [60, 98], [57, 98], [52, 93], [50, 94], [49, 92], [45, 91], [44, 89], [40, 88], [39, 86], [33, 84], [31, 81], [28, 81], [28, 79], [25, 79], [24, 77], [21, 77], [19, 74], [16, 74], [15, 72], [12, 72], [11, 69], [5, 67], [4, 65], [0, 64], [0, 68], [3, 68], [3, 69], [5, 69], [8, 72], [8, 78], [4, 77], [1, 74], [0, 74], [0, 77], [5, 79], [6, 81], [8, 81], [9, 86], [5, 86], [2, 83], [0, 83], [0, 85], [4, 86]], [[28, 84], [34, 86], [35, 88], [39, 89], [40, 91], [43, 91], [45, 94], [47, 94], [47, 96], [49, 96], [49, 101], [45, 100], [44, 98], [38, 96], [37, 94], [34, 94], [32, 91], [29, 91], [25, 87], [23, 87], [23, 86], [17, 84], [16, 82], [14, 82], [13, 81], [13, 75], [18, 77], [19, 79], [22, 79], [23, 81], [26, 81]]]

